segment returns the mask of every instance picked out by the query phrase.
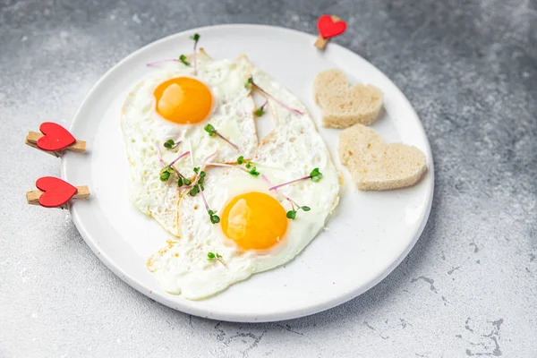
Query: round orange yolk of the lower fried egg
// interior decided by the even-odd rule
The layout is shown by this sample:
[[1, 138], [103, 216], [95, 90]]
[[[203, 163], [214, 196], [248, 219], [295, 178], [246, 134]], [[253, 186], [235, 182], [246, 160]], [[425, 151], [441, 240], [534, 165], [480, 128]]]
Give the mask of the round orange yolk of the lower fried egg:
[[270, 195], [247, 192], [226, 205], [222, 229], [243, 250], [267, 250], [286, 234], [286, 210]]

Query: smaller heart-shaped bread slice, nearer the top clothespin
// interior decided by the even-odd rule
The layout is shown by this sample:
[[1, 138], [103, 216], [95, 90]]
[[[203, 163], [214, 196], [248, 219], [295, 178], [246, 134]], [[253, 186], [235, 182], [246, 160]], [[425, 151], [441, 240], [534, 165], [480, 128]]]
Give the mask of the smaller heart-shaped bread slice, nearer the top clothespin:
[[322, 110], [322, 125], [346, 128], [371, 124], [382, 108], [382, 92], [371, 85], [349, 87], [345, 73], [333, 69], [317, 74], [313, 84], [315, 101]]

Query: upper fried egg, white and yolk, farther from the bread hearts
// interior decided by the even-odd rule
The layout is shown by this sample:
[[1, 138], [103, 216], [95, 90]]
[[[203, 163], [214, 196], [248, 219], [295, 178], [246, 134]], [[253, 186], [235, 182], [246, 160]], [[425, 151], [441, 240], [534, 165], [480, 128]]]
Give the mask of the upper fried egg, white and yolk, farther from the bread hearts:
[[[127, 96], [121, 120], [130, 175], [127, 192], [132, 204], [154, 217], [174, 235], [177, 227], [177, 177], [162, 182], [159, 172], [185, 152], [175, 163], [187, 178], [193, 168], [217, 152], [211, 161], [228, 163], [240, 155], [252, 158], [258, 145], [253, 119], [254, 103], [244, 83], [250, 76], [247, 65], [239, 61], [213, 61], [203, 51], [197, 56], [197, 74], [181, 62], [162, 64], [139, 82]], [[189, 58], [190, 61], [192, 59]], [[239, 150], [226, 141], [210, 137], [204, 130], [213, 125]], [[164, 143], [181, 142], [174, 149]], [[174, 183], [172, 183], [174, 182]]]

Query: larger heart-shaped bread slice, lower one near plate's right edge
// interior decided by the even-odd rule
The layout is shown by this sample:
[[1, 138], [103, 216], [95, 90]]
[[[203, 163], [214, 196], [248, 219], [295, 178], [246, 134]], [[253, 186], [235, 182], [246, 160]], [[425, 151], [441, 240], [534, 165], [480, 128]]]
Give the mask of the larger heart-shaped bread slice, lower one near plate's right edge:
[[420, 149], [402, 143], [386, 144], [377, 132], [362, 124], [341, 132], [339, 158], [362, 191], [411, 186], [427, 170]]

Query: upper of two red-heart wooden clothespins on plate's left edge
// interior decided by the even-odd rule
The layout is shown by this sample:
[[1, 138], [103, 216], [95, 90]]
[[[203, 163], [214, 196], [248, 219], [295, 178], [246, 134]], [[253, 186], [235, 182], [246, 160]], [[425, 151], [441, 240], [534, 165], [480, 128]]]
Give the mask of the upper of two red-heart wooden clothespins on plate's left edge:
[[41, 132], [28, 132], [26, 144], [55, 157], [59, 157], [64, 150], [71, 150], [77, 153], [86, 151], [86, 142], [77, 141], [60, 124], [45, 122], [39, 126], [39, 131]]

